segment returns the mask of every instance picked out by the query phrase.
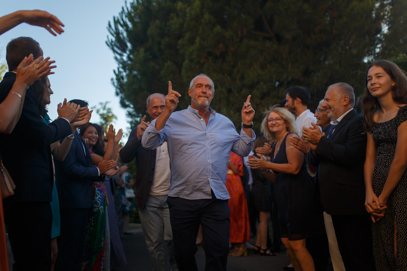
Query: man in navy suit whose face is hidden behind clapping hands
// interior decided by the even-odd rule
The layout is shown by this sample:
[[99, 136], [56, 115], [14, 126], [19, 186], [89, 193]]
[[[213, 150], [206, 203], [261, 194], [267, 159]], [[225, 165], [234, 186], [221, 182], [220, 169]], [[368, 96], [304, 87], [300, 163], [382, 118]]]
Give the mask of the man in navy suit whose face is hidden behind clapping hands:
[[[72, 100], [81, 107], [88, 102]], [[87, 124], [84, 125], [86, 128]], [[85, 248], [88, 211], [92, 207], [92, 182], [97, 178], [104, 180], [105, 173], [115, 164], [114, 160], [92, 165], [89, 148], [76, 130], [71, 134], [72, 145], [65, 160], [55, 163], [55, 182], [57, 184], [59, 209], [61, 214], [61, 241], [57, 258], [58, 271], [80, 271], [81, 257]]]

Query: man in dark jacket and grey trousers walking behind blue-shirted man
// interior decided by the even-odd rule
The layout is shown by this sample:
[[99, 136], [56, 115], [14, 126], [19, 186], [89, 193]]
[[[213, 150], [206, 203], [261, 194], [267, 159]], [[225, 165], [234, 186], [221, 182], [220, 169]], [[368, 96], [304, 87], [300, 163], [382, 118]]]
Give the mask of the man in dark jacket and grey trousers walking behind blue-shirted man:
[[[151, 121], [165, 109], [165, 96], [153, 93], [147, 98], [147, 112]], [[166, 271], [164, 240], [168, 248], [171, 269], [177, 271], [173, 234], [170, 224], [167, 197], [170, 190], [170, 159], [167, 143], [148, 150], [141, 145], [144, 130], [150, 122], [141, 123], [134, 128], [126, 145], [120, 150], [120, 159], [129, 163], [136, 158], [136, 203], [153, 271]]]

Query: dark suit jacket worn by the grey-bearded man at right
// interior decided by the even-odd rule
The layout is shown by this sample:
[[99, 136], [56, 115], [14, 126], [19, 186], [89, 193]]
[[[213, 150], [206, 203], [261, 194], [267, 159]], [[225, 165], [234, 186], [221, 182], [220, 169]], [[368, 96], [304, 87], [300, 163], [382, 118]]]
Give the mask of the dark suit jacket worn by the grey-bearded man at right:
[[[328, 135], [330, 126], [324, 132]], [[330, 215], [368, 215], [365, 210], [363, 164], [367, 135], [363, 117], [350, 111], [339, 122], [332, 136], [322, 137], [309, 162], [319, 165], [317, 182], [322, 206]]]

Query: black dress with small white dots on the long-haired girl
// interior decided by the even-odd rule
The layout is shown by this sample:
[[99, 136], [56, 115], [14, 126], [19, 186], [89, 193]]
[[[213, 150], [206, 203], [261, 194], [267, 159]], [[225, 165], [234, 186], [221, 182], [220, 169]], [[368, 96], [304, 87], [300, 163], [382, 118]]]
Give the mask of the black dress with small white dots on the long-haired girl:
[[[393, 162], [397, 128], [407, 120], [407, 110], [400, 109], [393, 119], [375, 123], [373, 140], [379, 146], [373, 170], [373, 190], [379, 196]], [[371, 128], [368, 127], [368, 132]], [[407, 144], [407, 142], [405, 143]], [[397, 258], [394, 258], [394, 222], [396, 223]], [[373, 253], [378, 271], [407, 270], [407, 170], [387, 202], [382, 219], [372, 223]]]

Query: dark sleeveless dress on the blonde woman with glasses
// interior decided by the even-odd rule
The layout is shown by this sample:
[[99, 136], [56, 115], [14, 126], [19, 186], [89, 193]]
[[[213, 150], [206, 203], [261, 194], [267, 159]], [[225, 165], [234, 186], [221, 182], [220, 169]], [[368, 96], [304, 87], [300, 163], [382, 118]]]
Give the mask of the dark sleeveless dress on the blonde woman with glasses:
[[[288, 135], [284, 137], [281, 146], [285, 146]], [[271, 162], [288, 163], [286, 149], [280, 148], [274, 157], [275, 148], [276, 145], [271, 150]], [[304, 158], [300, 173], [296, 175], [276, 171], [274, 173], [277, 173], [274, 184], [274, 204], [277, 205], [281, 237], [291, 241], [304, 239], [312, 215], [314, 191], [314, 181], [306, 169], [306, 160]]]

